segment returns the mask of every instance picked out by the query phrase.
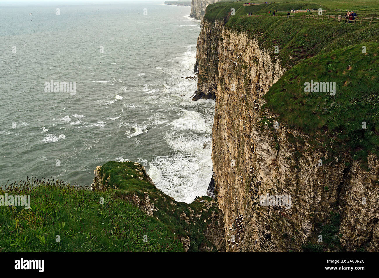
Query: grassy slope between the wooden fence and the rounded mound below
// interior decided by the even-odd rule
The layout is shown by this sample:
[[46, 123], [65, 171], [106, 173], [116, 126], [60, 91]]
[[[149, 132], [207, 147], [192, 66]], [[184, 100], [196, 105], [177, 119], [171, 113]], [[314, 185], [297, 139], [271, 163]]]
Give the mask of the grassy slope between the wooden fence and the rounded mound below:
[[[319, 53], [352, 44], [379, 42], [379, 28], [375, 24], [244, 16], [230, 17], [226, 28], [255, 37], [262, 49], [268, 50], [273, 58], [277, 56], [283, 67], [290, 68]], [[279, 53], [274, 51], [276, 46], [279, 47]]]

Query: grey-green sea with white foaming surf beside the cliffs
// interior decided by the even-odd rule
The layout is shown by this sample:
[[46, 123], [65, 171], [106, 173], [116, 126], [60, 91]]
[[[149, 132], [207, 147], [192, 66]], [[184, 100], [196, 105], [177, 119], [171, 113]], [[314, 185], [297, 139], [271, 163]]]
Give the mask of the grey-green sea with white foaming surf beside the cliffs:
[[[0, 184], [90, 185], [96, 166], [132, 160], [175, 200], [205, 195], [215, 103], [191, 101], [200, 22], [190, 9], [0, 7]], [[51, 80], [75, 90], [49, 92]]]

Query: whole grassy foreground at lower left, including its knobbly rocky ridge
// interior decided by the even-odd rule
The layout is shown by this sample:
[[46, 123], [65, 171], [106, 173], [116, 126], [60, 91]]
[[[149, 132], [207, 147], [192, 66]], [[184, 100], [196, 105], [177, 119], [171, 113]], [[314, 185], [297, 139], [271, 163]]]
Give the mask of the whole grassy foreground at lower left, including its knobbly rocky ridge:
[[[176, 202], [138, 163], [107, 162], [99, 173], [95, 190], [53, 179], [3, 186], [0, 196], [30, 195], [30, 208], [0, 206], [0, 252], [182, 252], [186, 236], [189, 251], [217, 251], [205, 238], [210, 217], [219, 212], [210, 197]], [[138, 198], [143, 202], [136, 207]], [[222, 228], [218, 221], [212, 225]]]

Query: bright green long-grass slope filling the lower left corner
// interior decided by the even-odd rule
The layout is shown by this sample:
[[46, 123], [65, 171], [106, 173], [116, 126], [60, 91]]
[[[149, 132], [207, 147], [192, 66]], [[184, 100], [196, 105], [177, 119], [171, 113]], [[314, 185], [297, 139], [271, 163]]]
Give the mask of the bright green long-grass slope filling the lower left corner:
[[54, 180], [27, 180], [6, 193], [30, 195], [31, 205], [30, 209], [0, 207], [2, 252], [183, 250], [172, 231], [118, 198], [112, 189], [97, 192]]

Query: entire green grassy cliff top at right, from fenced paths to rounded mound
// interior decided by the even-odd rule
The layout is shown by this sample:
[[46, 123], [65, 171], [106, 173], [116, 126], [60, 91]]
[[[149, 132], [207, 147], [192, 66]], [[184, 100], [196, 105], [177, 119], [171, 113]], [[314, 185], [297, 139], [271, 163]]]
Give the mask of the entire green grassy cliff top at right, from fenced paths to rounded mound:
[[[277, 14], [287, 14], [293, 8], [333, 6], [342, 10], [347, 5], [351, 5], [358, 16], [365, 13], [375, 16], [378, 10], [375, 1], [368, 1], [365, 6], [358, 2], [323, 1], [319, 5], [309, 2], [290, 4], [283, 0], [256, 6], [219, 2], [208, 6], [204, 20], [221, 20], [225, 28], [251, 36], [273, 61], [279, 61], [287, 69], [264, 96], [267, 103], [263, 108], [278, 115], [279, 123], [285, 122], [310, 135], [314, 138], [312, 147], [324, 148], [336, 157], [351, 152], [355, 159], [366, 160], [370, 152], [377, 154], [379, 147], [376, 65], [379, 23], [346, 23], [345, 17], [339, 22], [321, 20], [322, 16], [319, 20], [301, 16], [246, 16], [247, 11], [266, 14], [277, 9]], [[235, 16], [231, 15], [232, 8]], [[307, 13], [317, 15], [318, 11]], [[326, 18], [330, 14], [344, 12], [323, 12]], [[335, 95], [313, 92], [313, 81], [314, 84], [335, 84]], [[312, 92], [304, 91], [305, 82], [312, 82]]]

